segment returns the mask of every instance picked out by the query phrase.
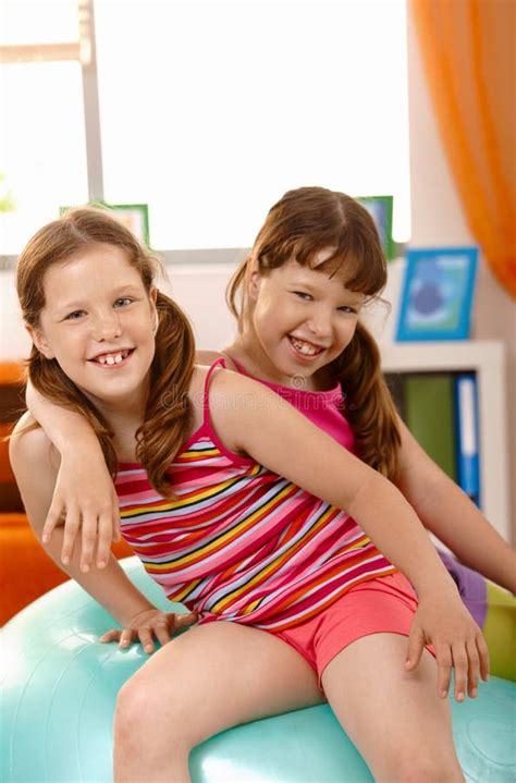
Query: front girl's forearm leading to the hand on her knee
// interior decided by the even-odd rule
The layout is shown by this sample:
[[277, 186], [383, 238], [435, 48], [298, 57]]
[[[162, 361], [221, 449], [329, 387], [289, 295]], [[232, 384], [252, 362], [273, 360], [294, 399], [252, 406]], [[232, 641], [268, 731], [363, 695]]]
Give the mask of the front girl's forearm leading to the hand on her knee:
[[419, 597], [438, 589], [456, 591], [414, 509], [380, 474], [371, 472], [346, 511], [413, 583]]

